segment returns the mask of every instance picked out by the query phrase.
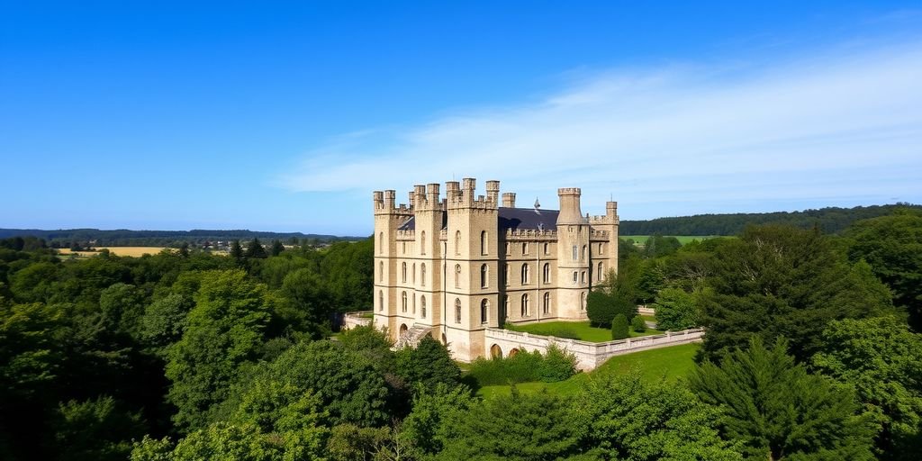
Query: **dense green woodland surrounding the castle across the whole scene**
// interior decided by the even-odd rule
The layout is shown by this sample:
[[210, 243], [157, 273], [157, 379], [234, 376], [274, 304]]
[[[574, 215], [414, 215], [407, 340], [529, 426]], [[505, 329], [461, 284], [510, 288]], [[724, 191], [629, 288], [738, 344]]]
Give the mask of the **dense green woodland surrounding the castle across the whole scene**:
[[[678, 232], [677, 232], [678, 233]], [[685, 232], [682, 232], [685, 233]], [[713, 232], [708, 232], [713, 233]], [[679, 382], [479, 398], [438, 342], [391, 350], [336, 313], [371, 305], [372, 240], [62, 261], [0, 241], [0, 458], [53, 460], [916, 459], [922, 214], [621, 244], [592, 295], [706, 328]], [[601, 317], [599, 317], [601, 315]], [[607, 320], [608, 319], [608, 320]], [[539, 379], [566, 351], [514, 359]], [[480, 368], [479, 368], [480, 367]], [[565, 370], [569, 367], [569, 370]], [[561, 375], [561, 370], [567, 371]]]

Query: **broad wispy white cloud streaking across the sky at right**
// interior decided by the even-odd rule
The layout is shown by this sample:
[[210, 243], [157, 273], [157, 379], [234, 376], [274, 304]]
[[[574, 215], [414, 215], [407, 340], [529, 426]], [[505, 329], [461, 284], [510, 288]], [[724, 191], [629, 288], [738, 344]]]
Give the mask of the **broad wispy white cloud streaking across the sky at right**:
[[771, 65], [616, 69], [537, 103], [339, 136], [279, 183], [371, 191], [472, 176], [550, 202], [556, 187], [574, 185], [586, 202], [613, 194], [656, 208], [640, 217], [731, 202], [918, 201], [920, 171], [916, 41]]

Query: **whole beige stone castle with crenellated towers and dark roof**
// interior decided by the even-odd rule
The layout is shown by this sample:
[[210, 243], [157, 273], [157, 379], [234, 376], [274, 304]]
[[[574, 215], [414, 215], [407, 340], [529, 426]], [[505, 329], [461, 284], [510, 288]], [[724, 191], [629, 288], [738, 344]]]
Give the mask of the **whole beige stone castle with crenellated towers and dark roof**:
[[585, 320], [585, 299], [618, 267], [618, 204], [583, 216], [580, 189], [557, 190], [560, 209], [515, 207], [487, 182], [417, 185], [409, 205], [374, 192], [374, 325], [397, 344], [430, 335], [455, 359], [486, 356], [487, 328]]

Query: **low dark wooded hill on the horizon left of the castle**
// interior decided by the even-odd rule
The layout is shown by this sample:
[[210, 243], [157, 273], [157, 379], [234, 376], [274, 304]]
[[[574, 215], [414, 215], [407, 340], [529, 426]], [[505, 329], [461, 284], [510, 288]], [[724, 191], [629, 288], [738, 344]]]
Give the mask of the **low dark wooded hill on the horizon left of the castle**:
[[63, 229], [42, 231], [39, 229], [0, 229], [0, 239], [7, 237], [38, 237], [51, 246], [171, 246], [179, 247], [183, 243], [202, 246], [206, 243], [217, 245], [218, 242], [242, 242], [259, 239], [263, 242], [279, 240], [282, 242], [330, 243], [340, 241], [362, 240], [366, 237], [341, 237], [337, 235], [305, 234], [301, 232], [264, 232], [264, 231], [129, 231], [117, 229], [100, 231], [99, 229]]

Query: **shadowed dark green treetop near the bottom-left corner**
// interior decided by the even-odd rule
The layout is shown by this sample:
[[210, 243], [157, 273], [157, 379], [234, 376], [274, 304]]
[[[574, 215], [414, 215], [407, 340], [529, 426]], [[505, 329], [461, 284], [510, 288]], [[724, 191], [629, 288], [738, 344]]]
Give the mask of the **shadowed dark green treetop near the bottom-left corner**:
[[132, 438], [144, 433], [140, 416], [116, 408], [112, 397], [60, 405], [53, 421], [57, 459], [62, 461], [123, 460]]

